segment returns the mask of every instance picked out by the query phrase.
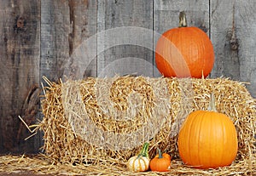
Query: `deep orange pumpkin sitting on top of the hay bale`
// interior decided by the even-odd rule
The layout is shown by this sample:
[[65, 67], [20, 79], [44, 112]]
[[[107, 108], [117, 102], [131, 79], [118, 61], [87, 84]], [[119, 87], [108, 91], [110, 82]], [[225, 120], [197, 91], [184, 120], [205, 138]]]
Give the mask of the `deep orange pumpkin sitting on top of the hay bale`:
[[155, 63], [165, 77], [207, 77], [214, 64], [212, 42], [206, 32], [187, 26], [184, 12], [179, 27], [168, 30], [155, 48]]

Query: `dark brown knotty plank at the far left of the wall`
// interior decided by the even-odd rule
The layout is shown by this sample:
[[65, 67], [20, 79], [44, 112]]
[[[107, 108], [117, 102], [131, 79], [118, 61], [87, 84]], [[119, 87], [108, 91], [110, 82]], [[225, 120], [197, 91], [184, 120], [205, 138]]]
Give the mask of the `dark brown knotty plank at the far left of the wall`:
[[30, 125], [38, 113], [40, 1], [0, 1], [0, 153], [35, 152]]

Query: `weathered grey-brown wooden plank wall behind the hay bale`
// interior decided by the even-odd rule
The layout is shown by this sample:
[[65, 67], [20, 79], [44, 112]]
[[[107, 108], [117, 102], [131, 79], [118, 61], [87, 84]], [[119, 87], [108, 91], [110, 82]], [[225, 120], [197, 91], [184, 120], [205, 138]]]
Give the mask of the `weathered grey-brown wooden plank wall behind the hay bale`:
[[[154, 66], [145, 64], [154, 65], [152, 50], [129, 44], [104, 49], [100, 44], [115, 38], [102, 41], [96, 33], [122, 26], [162, 33], [177, 26], [182, 10], [189, 26], [198, 26], [211, 37], [216, 60], [210, 77], [250, 82], [247, 88], [256, 97], [255, 7], [255, 0], [0, 0], [0, 153], [38, 152], [42, 133], [24, 140], [31, 133], [18, 116], [27, 124], [43, 117], [38, 97], [42, 77], [62, 77], [67, 62], [76, 61], [74, 51], [90, 37], [96, 57], [87, 63], [84, 76], [122, 75], [131, 68], [160, 77]], [[141, 40], [154, 46], [157, 38]], [[128, 57], [146, 62], [114, 62]]]

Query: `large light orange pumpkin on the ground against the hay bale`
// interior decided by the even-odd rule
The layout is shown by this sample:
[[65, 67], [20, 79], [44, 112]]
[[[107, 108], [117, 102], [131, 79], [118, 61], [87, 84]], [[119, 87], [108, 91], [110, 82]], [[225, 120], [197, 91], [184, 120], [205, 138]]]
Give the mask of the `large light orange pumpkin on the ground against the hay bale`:
[[198, 168], [229, 166], [236, 158], [236, 128], [218, 113], [212, 96], [209, 111], [189, 114], [178, 133], [178, 152], [184, 164]]

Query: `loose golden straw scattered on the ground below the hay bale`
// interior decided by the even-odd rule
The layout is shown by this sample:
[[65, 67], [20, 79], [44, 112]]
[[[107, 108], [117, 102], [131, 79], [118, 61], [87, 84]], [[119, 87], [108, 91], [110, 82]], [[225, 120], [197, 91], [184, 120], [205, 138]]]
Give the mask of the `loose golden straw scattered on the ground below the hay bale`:
[[[248, 165], [251, 165], [248, 168]], [[131, 173], [127, 171], [125, 165], [109, 165], [98, 163], [96, 165], [70, 164], [52, 162], [49, 156], [0, 156], [0, 173], [34, 173], [51, 175], [255, 175], [254, 160], [250, 163], [247, 160], [233, 163], [230, 167], [218, 169], [201, 170], [185, 167], [180, 160], [173, 160], [172, 166], [166, 173], [155, 173], [152, 171], [144, 173]]]

